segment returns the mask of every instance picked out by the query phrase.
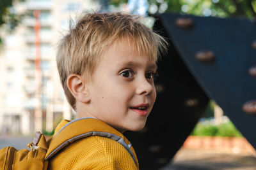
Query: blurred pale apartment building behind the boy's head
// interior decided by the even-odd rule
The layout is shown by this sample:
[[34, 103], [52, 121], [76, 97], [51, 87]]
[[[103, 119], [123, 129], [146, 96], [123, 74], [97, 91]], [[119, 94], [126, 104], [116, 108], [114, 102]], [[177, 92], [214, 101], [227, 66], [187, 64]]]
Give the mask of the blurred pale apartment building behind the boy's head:
[[[99, 1], [93, 0], [27, 0], [14, 5], [16, 13], [27, 15], [15, 32], [1, 30], [5, 41], [0, 51], [0, 134], [51, 131], [54, 122], [71, 118], [56, 69], [56, 46], [68, 30], [70, 18], [75, 20], [83, 11], [99, 8]], [[40, 11], [40, 87], [36, 86], [34, 11]], [[42, 113], [41, 122], [35, 120], [36, 108]]]

